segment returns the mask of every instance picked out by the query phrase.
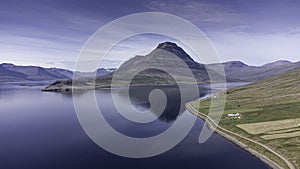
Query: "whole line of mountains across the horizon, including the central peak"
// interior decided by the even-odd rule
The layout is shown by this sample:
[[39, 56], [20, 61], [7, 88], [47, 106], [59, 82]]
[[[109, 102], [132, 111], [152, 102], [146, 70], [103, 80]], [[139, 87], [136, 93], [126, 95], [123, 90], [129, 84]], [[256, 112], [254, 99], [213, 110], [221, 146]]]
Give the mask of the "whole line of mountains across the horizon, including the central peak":
[[[284, 60], [262, 66], [249, 66], [240, 61], [231, 61], [222, 63], [226, 74], [226, 77], [223, 77], [214, 71], [220, 65], [198, 63], [175, 43], [164, 42], [145, 56], [135, 56], [129, 59], [118, 69], [98, 69], [96, 83], [91, 78], [95, 72], [76, 72], [76, 75], [87, 77], [81, 78], [84, 79], [80, 82], [83, 86], [93, 85], [96, 88], [103, 88], [110, 87], [113, 73], [114, 78], [117, 79], [117, 85], [128, 81], [132, 74], [135, 75], [131, 81], [132, 85], [171, 85], [176, 84], [178, 79], [179, 83], [191, 82], [192, 79], [195, 79], [198, 84], [209, 83], [208, 72], [217, 79], [226, 79], [227, 82], [254, 82], [300, 68], [300, 62], [292, 63]], [[155, 68], [163, 68], [166, 71]], [[0, 82], [57, 80], [49, 85], [46, 91], [61, 91], [62, 87], [70, 87], [73, 74], [74, 72], [65, 69], [0, 64]]]

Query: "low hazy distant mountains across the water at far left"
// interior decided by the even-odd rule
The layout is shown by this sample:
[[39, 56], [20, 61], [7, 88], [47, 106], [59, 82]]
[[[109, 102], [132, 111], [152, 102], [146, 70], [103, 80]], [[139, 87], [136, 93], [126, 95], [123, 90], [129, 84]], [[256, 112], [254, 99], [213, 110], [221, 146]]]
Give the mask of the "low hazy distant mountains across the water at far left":
[[[114, 69], [97, 70], [97, 76], [111, 73]], [[80, 77], [91, 77], [95, 72], [77, 72]], [[73, 72], [59, 68], [43, 68], [39, 66], [16, 66], [10, 63], [0, 64], [0, 82], [63, 80], [73, 77]]]

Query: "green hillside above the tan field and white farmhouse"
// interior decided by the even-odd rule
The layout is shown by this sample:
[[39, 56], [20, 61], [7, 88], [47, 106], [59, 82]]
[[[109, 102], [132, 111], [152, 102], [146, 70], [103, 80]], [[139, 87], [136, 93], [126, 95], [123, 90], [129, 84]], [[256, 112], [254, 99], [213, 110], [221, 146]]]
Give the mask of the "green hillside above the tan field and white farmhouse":
[[[226, 110], [244, 114], [241, 122], [300, 118], [300, 69], [227, 91]], [[249, 111], [254, 109], [255, 111]]]

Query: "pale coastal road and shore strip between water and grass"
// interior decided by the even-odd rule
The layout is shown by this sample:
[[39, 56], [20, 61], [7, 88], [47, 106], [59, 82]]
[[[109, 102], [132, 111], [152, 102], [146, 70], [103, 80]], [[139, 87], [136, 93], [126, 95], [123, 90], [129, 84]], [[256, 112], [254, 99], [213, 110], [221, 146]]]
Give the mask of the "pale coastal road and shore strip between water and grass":
[[[220, 136], [222, 136], [223, 138], [225, 138], [226, 140], [230, 141], [231, 143], [239, 146], [241, 149], [249, 152], [251, 155], [255, 156], [256, 158], [258, 158], [259, 160], [261, 160], [262, 162], [264, 162], [266, 165], [268, 165], [269, 167], [273, 168], [273, 169], [283, 169], [281, 166], [279, 166], [277, 163], [275, 163], [274, 161], [270, 160], [268, 157], [266, 157], [263, 154], [258, 153], [256, 150], [250, 148], [248, 145], [246, 145], [245, 143], [242, 143], [241, 141], [237, 140], [236, 138], [234, 138], [233, 136], [231, 136], [230, 134], [227, 134], [226, 132], [229, 132], [231, 134], [236, 135], [237, 137], [238, 134], [233, 133], [231, 131], [228, 131], [227, 129], [224, 129], [218, 125], [216, 125], [207, 115], [200, 113], [199, 111], [197, 111], [192, 105], [191, 102], [186, 103], [185, 104], [186, 109], [193, 113], [194, 115], [196, 115], [197, 117], [201, 118], [202, 120], [204, 120], [204, 122], [207, 122], [208, 127], [211, 128], [211, 125], [215, 125], [215, 131], [217, 134], [219, 134]], [[208, 120], [207, 120], [208, 119]], [[223, 130], [223, 131], [222, 131]], [[241, 137], [241, 139], [245, 139], [244, 137]], [[251, 139], [246, 139], [247, 141], [253, 142], [253, 140]], [[255, 142], [253, 142], [255, 143]], [[256, 144], [256, 143], [255, 143]], [[259, 146], [262, 146], [262, 144], [258, 144]], [[263, 148], [269, 150], [269, 148], [266, 148], [266, 146], [262, 146]], [[269, 150], [270, 151], [270, 150]], [[271, 151], [272, 153], [274, 153], [273, 151]], [[275, 154], [276, 156], [278, 156], [278, 154]], [[282, 156], [278, 156], [279, 158], [283, 158]], [[282, 159], [287, 166], [289, 166], [290, 169], [295, 169], [295, 167], [286, 159]]]

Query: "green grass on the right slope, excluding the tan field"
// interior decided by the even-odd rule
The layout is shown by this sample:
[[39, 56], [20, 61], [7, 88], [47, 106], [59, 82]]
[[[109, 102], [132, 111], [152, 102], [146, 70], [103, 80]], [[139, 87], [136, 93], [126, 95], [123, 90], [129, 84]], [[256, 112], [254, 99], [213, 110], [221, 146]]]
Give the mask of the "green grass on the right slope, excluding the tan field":
[[[263, 140], [261, 135], [250, 135], [236, 127], [238, 124], [300, 118], [300, 69], [236, 87], [225, 93], [227, 100], [220, 121], [221, 127], [270, 146], [300, 168], [300, 137]], [[200, 105], [199, 111], [207, 114], [210, 104], [211, 100], [206, 99], [193, 103], [193, 106]], [[240, 113], [242, 119], [229, 119], [229, 113]], [[272, 155], [266, 155], [278, 162]], [[282, 164], [280, 161], [278, 163]]]

